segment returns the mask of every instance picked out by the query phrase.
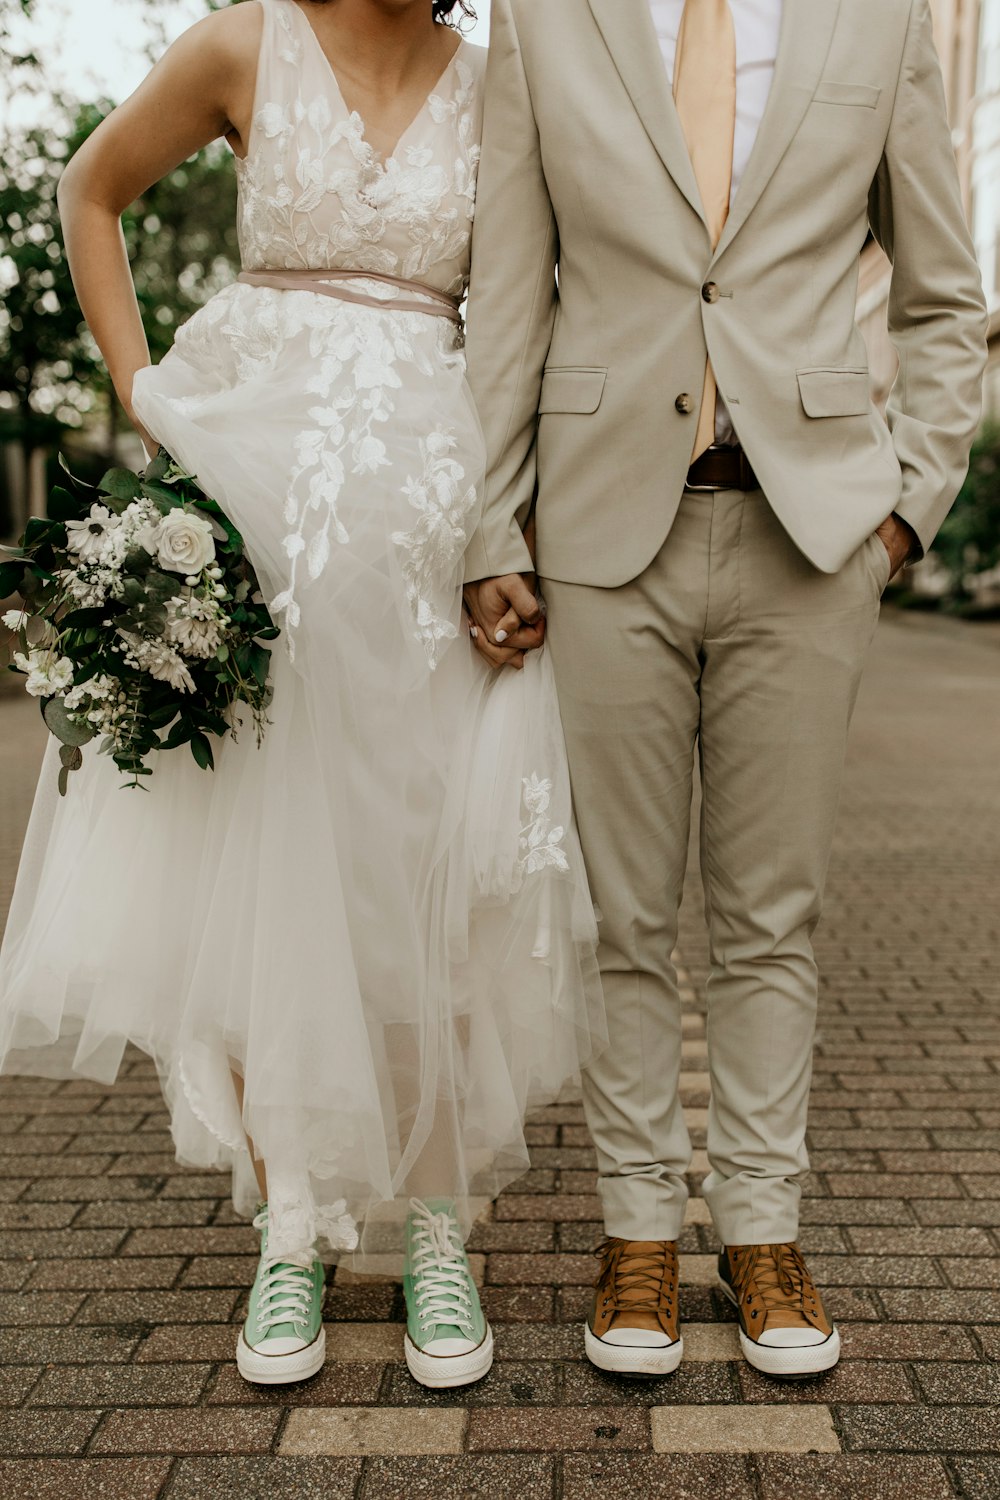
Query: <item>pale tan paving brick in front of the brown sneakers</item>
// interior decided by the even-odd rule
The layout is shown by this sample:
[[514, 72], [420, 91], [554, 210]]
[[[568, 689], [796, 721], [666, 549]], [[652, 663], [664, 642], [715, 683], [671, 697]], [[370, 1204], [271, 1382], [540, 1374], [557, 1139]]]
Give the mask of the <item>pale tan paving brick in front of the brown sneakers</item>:
[[654, 1407], [657, 1454], [838, 1454], [829, 1407]]

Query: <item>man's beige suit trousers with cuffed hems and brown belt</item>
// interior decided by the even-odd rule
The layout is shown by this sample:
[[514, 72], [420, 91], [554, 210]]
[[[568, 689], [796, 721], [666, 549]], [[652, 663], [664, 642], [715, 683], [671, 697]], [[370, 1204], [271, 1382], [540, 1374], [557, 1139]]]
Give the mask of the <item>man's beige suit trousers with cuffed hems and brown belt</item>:
[[760, 490], [685, 492], [621, 588], [544, 582], [610, 1046], [585, 1080], [609, 1234], [676, 1239], [691, 1148], [670, 962], [696, 747], [711, 942], [705, 1184], [724, 1244], [798, 1236], [816, 928], [889, 556], [817, 572]]

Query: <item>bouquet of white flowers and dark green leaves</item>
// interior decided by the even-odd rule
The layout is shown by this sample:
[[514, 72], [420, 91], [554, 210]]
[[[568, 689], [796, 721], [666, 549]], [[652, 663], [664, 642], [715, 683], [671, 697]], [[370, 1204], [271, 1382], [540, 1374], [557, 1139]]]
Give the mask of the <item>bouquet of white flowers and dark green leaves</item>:
[[10, 670], [61, 742], [60, 792], [97, 736], [129, 786], [153, 774], [154, 750], [190, 746], [214, 768], [210, 736], [235, 736], [238, 705], [259, 744], [261, 642], [279, 632], [235, 526], [162, 450], [144, 474], [114, 468], [96, 490], [66, 474], [48, 518], [0, 560], [0, 598], [24, 598], [3, 616], [19, 645]]

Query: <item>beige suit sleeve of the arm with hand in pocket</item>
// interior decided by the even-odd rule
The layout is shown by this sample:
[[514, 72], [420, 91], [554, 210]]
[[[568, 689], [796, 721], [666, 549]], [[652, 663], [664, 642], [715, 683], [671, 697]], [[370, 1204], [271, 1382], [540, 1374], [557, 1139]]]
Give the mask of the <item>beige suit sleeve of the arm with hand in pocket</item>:
[[966, 478], [987, 362], [982, 279], [927, 0], [913, 0], [870, 220], [892, 262], [889, 336], [900, 374], [886, 417], [903, 470], [895, 510], [927, 552]]

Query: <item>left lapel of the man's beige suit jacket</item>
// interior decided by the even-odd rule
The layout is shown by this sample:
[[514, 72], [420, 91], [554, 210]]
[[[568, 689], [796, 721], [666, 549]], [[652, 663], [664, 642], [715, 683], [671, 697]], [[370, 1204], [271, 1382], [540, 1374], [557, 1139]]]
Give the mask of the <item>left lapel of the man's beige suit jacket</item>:
[[[802, 0], [786, 0], [798, 9]], [[663, 165], [705, 220], [648, 0], [589, 0], [594, 20]]]

